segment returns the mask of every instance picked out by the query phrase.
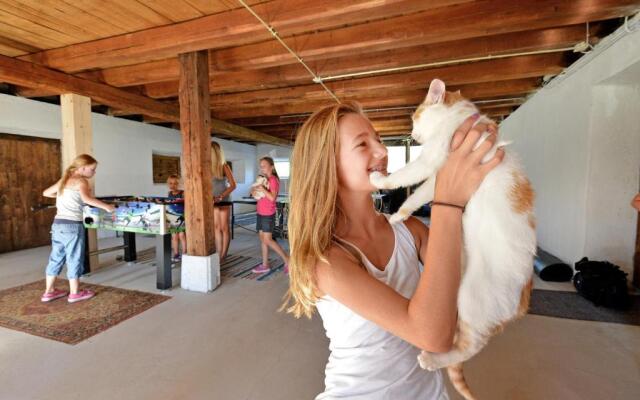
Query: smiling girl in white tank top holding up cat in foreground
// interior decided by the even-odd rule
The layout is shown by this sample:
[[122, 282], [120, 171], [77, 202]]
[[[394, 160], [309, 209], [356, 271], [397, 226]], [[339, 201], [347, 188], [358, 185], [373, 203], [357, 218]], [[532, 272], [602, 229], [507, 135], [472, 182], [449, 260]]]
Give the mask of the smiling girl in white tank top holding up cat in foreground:
[[471, 129], [476, 119], [458, 128], [438, 173], [430, 229], [414, 218], [391, 225], [375, 212], [369, 175], [386, 174], [387, 150], [358, 105], [325, 107], [298, 132], [288, 311], [310, 317], [317, 307], [330, 339], [316, 399], [448, 398], [440, 373], [420, 369], [417, 356], [452, 346], [462, 208], [503, 157], [481, 164], [496, 135], [474, 149], [488, 129]]

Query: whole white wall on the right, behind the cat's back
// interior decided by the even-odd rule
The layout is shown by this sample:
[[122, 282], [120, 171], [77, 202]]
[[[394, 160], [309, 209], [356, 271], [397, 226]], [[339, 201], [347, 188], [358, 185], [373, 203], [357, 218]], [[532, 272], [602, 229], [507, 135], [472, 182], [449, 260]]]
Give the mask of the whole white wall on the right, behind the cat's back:
[[639, 83], [635, 32], [540, 90], [501, 124], [536, 189], [539, 244], [569, 264], [586, 255], [632, 269]]

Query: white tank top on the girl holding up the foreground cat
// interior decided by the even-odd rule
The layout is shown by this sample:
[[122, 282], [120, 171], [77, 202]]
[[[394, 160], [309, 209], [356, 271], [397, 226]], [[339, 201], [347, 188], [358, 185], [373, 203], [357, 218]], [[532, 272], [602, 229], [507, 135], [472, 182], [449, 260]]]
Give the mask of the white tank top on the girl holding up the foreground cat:
[[[369, 273], [410, 298], [423, 266], [413, 235], [403, 223], [391, 225], [393, 253], [383, 271], [361, 255]], [[348, 243], [348, 242], [347, 242]], [[330, 296], [317, 303], [329, 338], [325, 391], [316, 400], [447, 400], [440, 371], [420, 368], [420, 349], [354, 313]]]

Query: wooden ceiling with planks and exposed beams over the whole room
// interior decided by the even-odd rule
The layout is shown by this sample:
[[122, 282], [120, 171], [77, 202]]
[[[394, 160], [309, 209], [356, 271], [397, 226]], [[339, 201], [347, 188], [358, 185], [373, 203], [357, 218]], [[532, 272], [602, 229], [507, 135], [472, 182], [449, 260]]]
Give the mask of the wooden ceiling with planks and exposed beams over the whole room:
[[[236, 0], [0, 0], [0, 82], [45, 100], [90, 88], [80, 94], [97, 111], [175, 126], [177, 56], [207, 49], [215, 136], [292, 140], [336, 101], [329, 91], [362, 103], [381, 134], [401, 135], [431, 79], [502, 119], [579, 58], [570, 49], [587, 23], [595, 44], [640, 10], [639, 0], [245, 3], [326, 89]], [[47, 73], [54, 83], [38, 81]]]

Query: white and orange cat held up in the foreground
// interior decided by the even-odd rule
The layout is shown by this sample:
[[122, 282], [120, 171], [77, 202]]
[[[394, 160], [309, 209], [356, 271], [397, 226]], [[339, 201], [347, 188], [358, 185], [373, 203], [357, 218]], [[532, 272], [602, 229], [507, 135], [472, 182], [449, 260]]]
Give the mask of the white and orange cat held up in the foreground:
[[[408, 218], [433, 200], [435, 177], [450, 151], [458, 126], [478, 109], [459, 92], [445, 91], [434, 79], [425, 101], [413, 115], [411, 136], [422, 145], [415, 161], [391, 175], [371, 174], [381, 189], [422, 183], [390, 221]], [[491, 123], [481, 116], [476, 123]], [[489, 133], [484, 133], [476, 146]], [[483, 162], [494, 155], [496, 143]], [[458, 326], [448, 353], [422, 352], [420, 365], [428, 370], [447, 367], [456, 390], [474, 399], [462, 374], [462, 363], [477, 354], [504, 324], [526, 314], [529, 307], [533, 257], [536, 252], [533, 190], [517, 159], [505, 154], [466, 205], [463, 217], [462, 281], [458, 292]]]

